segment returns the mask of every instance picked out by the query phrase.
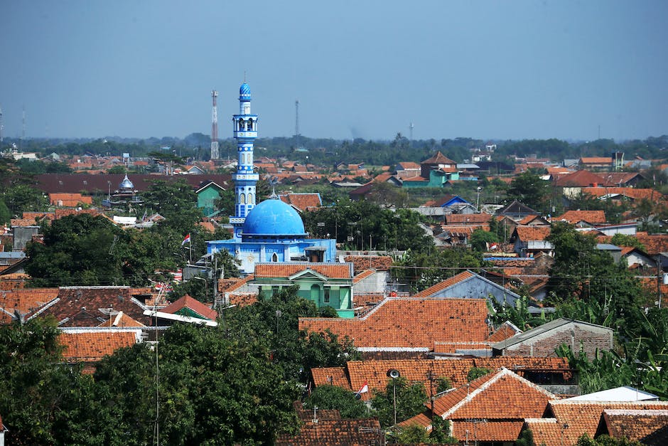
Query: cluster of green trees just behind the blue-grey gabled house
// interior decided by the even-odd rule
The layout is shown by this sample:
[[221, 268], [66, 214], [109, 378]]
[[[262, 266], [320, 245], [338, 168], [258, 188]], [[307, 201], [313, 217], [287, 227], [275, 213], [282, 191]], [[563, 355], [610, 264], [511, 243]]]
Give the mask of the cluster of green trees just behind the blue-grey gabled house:
[[464, 270], [476, 271], [482, 266], [480, 254], [457, 247], [434, 250], [433, 253], [408, 251], [394, 263], [392, 272], [396, 280], [408, 283], [417, 292]]

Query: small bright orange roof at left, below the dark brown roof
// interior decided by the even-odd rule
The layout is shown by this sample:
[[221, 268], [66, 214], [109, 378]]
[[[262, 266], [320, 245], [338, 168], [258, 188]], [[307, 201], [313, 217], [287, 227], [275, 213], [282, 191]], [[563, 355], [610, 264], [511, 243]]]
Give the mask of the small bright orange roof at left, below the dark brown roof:
[[96, 330], [65, 331], [58, 340], [65, 350], [63, 357], [68, 362], [94, 362], [113, 354], [121, 347], [136, 344], [138, 331]]

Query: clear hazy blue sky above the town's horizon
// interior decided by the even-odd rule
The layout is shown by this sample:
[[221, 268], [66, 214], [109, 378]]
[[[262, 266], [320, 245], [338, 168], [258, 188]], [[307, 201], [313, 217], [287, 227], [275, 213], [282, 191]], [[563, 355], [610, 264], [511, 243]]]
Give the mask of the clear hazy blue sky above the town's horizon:
[[0, 0], [4, 134], [617, 140], [668, 133], [668, 2]]

